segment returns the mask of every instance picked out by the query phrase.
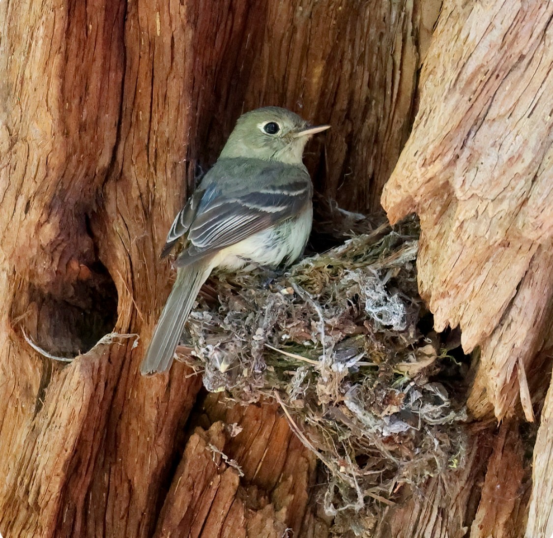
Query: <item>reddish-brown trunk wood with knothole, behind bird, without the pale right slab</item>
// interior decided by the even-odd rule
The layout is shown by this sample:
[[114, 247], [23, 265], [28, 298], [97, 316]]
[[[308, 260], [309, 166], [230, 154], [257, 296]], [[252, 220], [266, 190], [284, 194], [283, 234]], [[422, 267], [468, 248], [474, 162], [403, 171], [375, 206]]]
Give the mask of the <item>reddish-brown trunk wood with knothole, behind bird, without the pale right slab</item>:
[[[140, 377], [170, 288], [159, 250], [197, 167], [259, 105], [332, 123], [307, 159], [316, 186], [351, 209], [375, 209], [408, 135], [439, 8], [0, 4], [5, 538], [326, 534], [309, 502], [312, 457], [274, 406], [234, 411], [251, 436], [236, 446], [222, 411], [187, 429], [200, 380], [185, 366]], [[275, 431], [248, 430], [241, 415], [254, 412]], [[263, 461], [281, 464], [263, 467], [265, 444]], [[231, 449], [245, 478], [217, 452]]]

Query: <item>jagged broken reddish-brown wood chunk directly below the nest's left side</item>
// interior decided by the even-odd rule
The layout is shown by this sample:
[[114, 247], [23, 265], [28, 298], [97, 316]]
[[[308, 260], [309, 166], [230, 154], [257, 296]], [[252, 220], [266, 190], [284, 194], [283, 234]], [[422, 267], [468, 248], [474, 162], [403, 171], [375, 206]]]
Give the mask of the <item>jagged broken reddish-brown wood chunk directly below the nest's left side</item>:
[[188, 536], [190, 530], [206, 538], [220, 531], [229, 538], [280, 538], [286, 529], [327, 536], [327, 525], [307, 505], [315, 456], [276, 407], [226, 408], [215, 397], [205, 407], [208, 422], [215, 422], [207, 432], [196, 428], [187, 442], [155, 536]]

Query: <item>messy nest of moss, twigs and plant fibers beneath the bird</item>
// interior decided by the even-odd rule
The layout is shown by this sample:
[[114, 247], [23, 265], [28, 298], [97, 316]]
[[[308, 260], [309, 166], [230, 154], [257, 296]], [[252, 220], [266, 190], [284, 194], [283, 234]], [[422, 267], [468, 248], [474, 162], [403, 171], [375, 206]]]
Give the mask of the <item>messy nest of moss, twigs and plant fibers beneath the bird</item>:
[[[460, 464], [466, 420], [418, 329], [418, 225], [380, 226], [284, 276], [220, 275], [192, 312], [190, 365], [239, 403], [275, 398], [327, 470], [335, 532], [363, 535], [403, 484]], [[206, 303], [205, 299], [200, 302]]]

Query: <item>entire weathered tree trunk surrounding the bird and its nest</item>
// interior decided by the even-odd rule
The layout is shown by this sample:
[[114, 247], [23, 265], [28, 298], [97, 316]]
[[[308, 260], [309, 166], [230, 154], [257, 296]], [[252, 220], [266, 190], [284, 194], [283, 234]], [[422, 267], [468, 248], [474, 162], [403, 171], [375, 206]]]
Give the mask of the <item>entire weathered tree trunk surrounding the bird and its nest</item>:
[[[306, 163], [347, 209], [378, 211], [395, 167], [383, 203], [393, 220], [421, 217], [437, 328], [460, 324], [466, 350], [481, 348], [465, 467], [403, 492], [375, 536], [522, 536], [528, 503], [526, 536], [545, 536], [551, 391], [531, 501], [516, 402], [539, 411], [551, 348], [551, 10], [0, 3], [4, 538], [329, 534], [315, 457], [278, 406], [199, 397], [179, 363], [138, 371], [171, 286], [159, 261], [171, 220], [260, 105], [331, 123]], [[493, 411], [509, 417], [497, 436]]]

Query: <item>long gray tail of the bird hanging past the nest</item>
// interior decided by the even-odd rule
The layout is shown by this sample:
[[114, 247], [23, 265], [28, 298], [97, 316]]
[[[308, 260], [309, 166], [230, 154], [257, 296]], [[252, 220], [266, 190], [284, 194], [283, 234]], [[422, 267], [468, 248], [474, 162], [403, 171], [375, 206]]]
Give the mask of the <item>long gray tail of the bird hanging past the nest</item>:
[[186, 318], [211, 268], [207, 260], [200, 260], [178, 270], [173, 289], [140, 366], [142, 375], [169, 370]]

